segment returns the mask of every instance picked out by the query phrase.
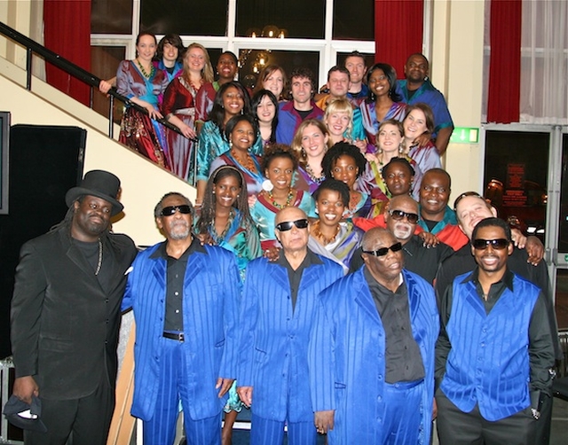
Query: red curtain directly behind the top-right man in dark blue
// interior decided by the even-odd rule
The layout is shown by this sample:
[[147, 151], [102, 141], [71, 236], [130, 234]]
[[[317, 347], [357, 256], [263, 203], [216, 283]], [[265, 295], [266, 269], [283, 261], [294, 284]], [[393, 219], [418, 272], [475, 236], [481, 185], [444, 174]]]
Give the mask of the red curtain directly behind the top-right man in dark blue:
[[386, 62], [404, 78], [406, 59], [422, 52], [423, 0], [375, 0], [375, 62]]

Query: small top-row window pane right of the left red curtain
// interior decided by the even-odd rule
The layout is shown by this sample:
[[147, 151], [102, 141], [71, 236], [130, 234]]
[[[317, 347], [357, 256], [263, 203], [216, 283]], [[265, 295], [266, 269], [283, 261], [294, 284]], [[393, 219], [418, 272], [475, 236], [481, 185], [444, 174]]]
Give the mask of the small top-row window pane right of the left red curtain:
[[91, 34], [130, 34], [132, 0], [91, 0]]

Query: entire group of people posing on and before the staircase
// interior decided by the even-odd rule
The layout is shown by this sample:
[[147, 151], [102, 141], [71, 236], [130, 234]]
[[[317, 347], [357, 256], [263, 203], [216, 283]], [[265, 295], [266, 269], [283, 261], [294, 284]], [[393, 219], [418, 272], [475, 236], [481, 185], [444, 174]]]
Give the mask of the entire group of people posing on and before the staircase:
[[[121, 139], [193, 174], [195, 206], [165, 194], [165, 241], [137, 254], [110, 230], [119, 179], [94, 170], [22, 247], [13, 394], [39, 397], [48, 430], [26, 443], [105, 443], [130, 308], [148, 445], [173, 443], [180, 407], [188, 443], [231, 443], [243, 406], [252, 444], [285, 426], [290, 444], [428, 443], [433, 418], [442, 445], [548, 443], [561, 355], [543, 246], [476, 192], [449, 207], [453, 125], [428, 61], [412, 55], [397, 82], [353, 52], [319, 96], [296, 68], [288, 101], [269, 66], [251, 99], [232, 53], [213, 82], [207, 51], [193, 43], [180, 65], [177, 43], [154, 66], [142, 33], [119, 67], [117, 89], [148, 112], [127, 110]], [[183, 136], [161, 138], [162, 115]]]

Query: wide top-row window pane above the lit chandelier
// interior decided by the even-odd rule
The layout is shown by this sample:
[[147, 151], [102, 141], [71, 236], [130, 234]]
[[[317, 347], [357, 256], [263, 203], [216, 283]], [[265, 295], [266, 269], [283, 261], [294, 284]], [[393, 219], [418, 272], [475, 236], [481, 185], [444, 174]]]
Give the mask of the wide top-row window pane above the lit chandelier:
[[263, 29], [270, 30], [265, 27], [272, 26], [274, 32], [287, 30], [288, 37], [322, 39], [325, 12], [325, 0], [238, 0], [236, 34], [250, 36], [255, 29], [260, 36]]

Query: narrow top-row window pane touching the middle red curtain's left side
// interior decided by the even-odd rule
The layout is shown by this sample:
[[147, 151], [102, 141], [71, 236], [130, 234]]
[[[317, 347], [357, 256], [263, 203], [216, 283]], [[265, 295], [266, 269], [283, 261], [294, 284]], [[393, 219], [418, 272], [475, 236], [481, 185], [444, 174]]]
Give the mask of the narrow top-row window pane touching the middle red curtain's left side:
[[335, 0], [333, 38], [375, 40], [374, 0]]

